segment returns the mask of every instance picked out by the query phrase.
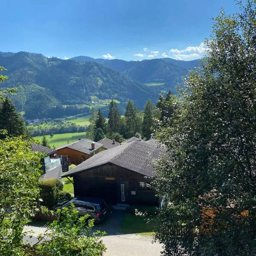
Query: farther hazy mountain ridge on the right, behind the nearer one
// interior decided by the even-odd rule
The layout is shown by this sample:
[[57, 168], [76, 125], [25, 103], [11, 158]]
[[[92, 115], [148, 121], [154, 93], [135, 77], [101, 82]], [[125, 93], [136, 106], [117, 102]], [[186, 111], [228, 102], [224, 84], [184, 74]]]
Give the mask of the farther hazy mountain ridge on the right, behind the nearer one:
[[94, 61], [105, 67], [117, 70], [131, 79], [147, 84], [164, 83], [166, 90], [175, 91], [175, 85], [188, 74], [188, 70], [200, 65], [199, 60], [180, 61], [172, 58], [151, 59], [143, 61], [124, 61], [119, 59], [93, 59], [87, 56], [72, 58], [75, 61]]

